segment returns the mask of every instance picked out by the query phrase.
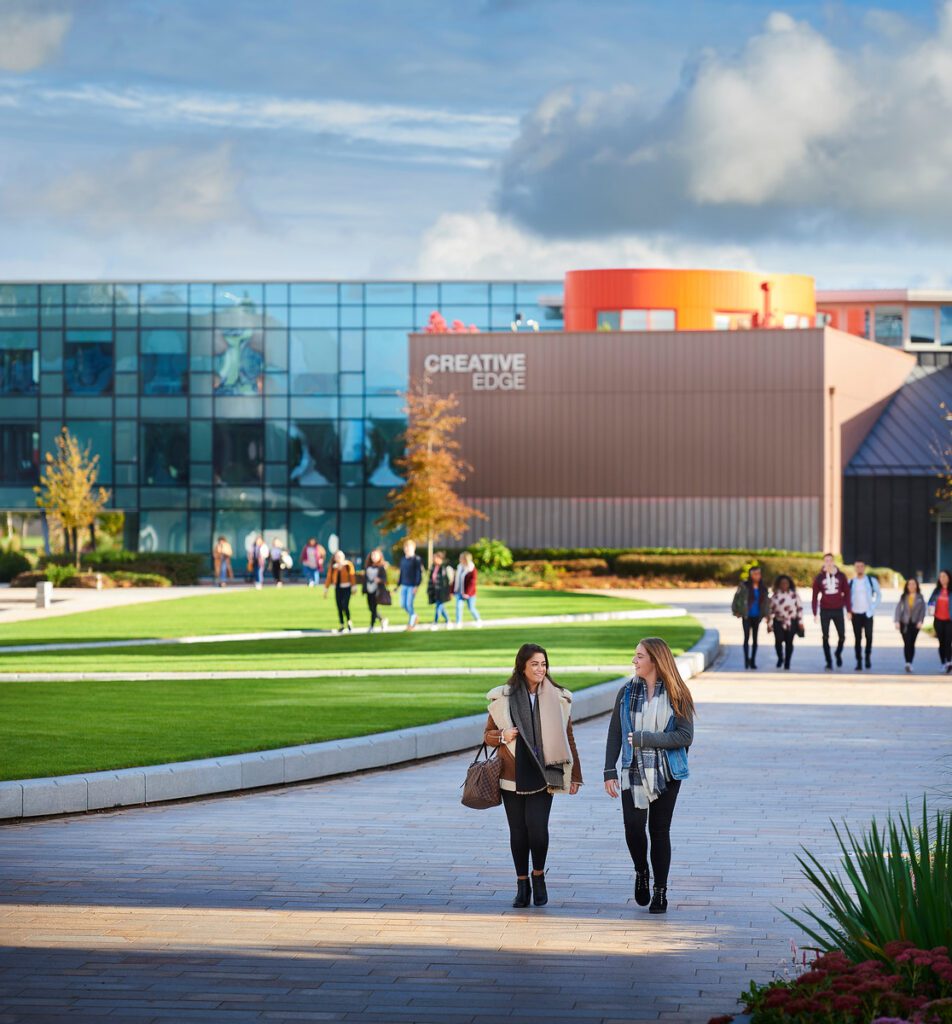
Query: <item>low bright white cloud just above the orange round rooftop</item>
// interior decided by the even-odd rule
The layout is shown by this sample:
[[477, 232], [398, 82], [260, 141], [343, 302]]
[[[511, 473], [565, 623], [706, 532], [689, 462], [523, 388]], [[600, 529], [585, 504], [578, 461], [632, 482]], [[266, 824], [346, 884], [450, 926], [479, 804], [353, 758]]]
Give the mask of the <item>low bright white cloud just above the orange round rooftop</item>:
[[752, 268], [741, 246], [690, 244], [665, 238], [552, 240], [482, 211], [447, 213], [421, 240], [418, 278], [561, 279], [566, 270], [606, 266], [732, 266]]

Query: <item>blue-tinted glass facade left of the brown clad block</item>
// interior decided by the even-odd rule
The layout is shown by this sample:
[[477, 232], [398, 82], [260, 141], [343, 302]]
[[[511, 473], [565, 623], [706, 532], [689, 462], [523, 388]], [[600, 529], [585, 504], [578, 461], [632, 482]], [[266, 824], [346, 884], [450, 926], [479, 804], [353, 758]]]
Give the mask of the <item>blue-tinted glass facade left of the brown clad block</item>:
[[560, 330], [561, 282], [0, 283], [0, 508], [35, 508], [67, 426], [126, 545], [332, 537], [362, 554], [400, 483], [407, 336], [439, 310]]

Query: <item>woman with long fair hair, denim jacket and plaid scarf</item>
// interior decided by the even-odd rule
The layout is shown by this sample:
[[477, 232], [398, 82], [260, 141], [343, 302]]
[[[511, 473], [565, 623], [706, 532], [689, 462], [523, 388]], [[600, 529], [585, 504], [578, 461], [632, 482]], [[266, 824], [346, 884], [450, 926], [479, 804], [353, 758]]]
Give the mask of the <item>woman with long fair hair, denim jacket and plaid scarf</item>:
[[632, 664], [635, 675], [618, 690], [608, 726], [605, 792], [609, 797], [618, 797], [615, 766], [620, 754], [621, 811], [624, 839], [635, 864], [635, 902], [639, 906], [648, 906], [650, 902], [649, 913], [664, 913], [672, 859], [672, 816], [681, 782], [688, 777], [688, 748], [694, 739], [694, 700], [663, 640], [645, 637]]

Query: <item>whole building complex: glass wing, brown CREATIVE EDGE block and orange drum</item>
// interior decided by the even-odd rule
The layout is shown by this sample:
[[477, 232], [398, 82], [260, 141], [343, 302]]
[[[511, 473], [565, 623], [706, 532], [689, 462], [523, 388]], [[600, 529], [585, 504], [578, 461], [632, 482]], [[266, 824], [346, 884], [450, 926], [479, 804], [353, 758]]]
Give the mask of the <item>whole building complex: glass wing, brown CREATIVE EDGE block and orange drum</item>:
[[[475, 330], [424, 333], [433, 311]], [[467, 418], [488, 516], [468, 540], [832, 549], [931, 575], [952, 559], [927, 454], [949, 443], [950, 352], [952, 292], [799, 274], [0, 284], [0, 509], [34, 507], [66, 425], [130, 547], [262, 531], [359, 557], [426, 374]]]

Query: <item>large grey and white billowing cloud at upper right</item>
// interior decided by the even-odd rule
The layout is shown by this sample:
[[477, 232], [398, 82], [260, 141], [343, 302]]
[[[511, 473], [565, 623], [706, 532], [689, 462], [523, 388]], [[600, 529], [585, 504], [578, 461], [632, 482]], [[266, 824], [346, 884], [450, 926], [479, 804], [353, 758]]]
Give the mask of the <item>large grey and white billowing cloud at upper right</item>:
[[927, 37], [894, 22], [837, 49], [771, 14], [705, 52], [660, 109], [623, 86], [559, 91], [522, 123], [496, 208], [547, 236], [817, 239], [952, 226], [952, 0]]

